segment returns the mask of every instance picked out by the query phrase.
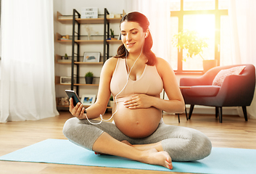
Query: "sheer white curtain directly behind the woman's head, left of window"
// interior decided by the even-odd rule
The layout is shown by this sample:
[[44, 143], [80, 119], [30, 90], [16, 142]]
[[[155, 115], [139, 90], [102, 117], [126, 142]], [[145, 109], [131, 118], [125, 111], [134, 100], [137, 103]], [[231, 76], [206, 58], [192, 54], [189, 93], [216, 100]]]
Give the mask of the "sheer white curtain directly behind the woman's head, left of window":
[[170, 62], [170, 0], [127, 0], [125, 12], [138, 11], [149, 19], [149, 29], [152, 33], [152, 51], [157, 57]]

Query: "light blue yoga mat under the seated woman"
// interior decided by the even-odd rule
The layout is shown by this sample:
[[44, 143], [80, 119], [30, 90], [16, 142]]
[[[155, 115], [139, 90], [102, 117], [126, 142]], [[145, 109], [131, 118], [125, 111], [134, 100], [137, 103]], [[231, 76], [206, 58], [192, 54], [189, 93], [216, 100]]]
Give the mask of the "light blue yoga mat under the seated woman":
[[209, 157], [195, 162], [173, 162], [173, 170], [147, 165], [122, 157], [96, 155], [68, 140], [47, 139], [6, 154], [0, 160], [46, 162], [65, 165], [120, 167], [141, 170], [173, 171], [180, 173], [256, 173], [255, 149], [212, 148]]

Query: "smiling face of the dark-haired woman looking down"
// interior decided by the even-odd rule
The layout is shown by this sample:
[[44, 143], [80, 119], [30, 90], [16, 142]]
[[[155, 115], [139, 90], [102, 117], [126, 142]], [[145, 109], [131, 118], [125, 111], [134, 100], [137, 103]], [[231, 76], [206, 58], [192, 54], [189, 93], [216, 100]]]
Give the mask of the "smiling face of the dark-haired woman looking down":
[[120, 25], [121, 38], [125, 48], [131, 54], [139, 54], [145, 41], [143, 29], [137, 22], [122, 22]]

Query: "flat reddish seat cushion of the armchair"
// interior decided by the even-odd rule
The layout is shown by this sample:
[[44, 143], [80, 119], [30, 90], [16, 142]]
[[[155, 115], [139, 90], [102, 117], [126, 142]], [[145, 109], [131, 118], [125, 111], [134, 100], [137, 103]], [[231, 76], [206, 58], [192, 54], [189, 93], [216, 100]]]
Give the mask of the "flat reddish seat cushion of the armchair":
[[186, 89], [188, 96], [216, 96], [220, 86], [191, 86]]

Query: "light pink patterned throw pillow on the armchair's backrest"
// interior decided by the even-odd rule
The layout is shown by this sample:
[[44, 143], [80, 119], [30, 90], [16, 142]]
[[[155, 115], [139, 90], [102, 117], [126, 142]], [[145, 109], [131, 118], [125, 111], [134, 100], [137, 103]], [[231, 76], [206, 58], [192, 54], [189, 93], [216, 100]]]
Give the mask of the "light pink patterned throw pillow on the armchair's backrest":
[[226, 70], [220, 70], [212, 81], [212, 86], [222, 86], [224, 79], [228, 75], [239, 75], [246, 66], [231, 67]]

